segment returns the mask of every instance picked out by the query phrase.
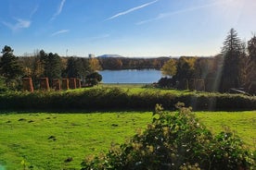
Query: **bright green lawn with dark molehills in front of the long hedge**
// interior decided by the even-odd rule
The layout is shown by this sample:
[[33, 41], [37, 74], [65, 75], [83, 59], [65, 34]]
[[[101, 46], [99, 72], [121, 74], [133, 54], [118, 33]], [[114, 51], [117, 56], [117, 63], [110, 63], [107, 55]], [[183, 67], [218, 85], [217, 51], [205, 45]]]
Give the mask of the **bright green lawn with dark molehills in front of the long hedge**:
[[[255, 111], [199, 112], [197, 116], [213, 133], [225, 126], [237, 131], [255, 150]], [[106, 152], [111, 142], [122, 143], [150, 121], [149, 112], [2, 113], [0, 169], [22, 169], [22, 160], [32, 169], [80, 169], [86, 155]]]

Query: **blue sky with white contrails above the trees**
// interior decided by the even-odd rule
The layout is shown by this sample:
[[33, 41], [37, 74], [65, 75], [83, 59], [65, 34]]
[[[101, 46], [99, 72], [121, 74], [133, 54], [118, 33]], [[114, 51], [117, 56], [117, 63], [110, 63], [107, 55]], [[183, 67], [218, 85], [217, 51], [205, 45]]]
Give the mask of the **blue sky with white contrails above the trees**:
[[216, 55], [256, 33], [256, 0], [5, 0], [0, 47], [15, 55]]

